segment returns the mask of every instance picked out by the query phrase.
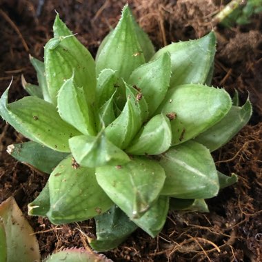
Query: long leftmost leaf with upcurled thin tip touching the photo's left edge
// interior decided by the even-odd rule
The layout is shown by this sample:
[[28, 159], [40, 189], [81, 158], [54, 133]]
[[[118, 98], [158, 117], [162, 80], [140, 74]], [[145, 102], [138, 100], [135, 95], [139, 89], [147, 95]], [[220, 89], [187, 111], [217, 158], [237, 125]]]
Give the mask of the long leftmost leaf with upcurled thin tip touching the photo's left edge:
[[0, 99], [1, 117], [32, 141], [53, 150], [70, 152], [68, 139], [79, 132], [59, 117], [54, 105], [37, 97], [23, 97], [8, 104], [8, 90]]

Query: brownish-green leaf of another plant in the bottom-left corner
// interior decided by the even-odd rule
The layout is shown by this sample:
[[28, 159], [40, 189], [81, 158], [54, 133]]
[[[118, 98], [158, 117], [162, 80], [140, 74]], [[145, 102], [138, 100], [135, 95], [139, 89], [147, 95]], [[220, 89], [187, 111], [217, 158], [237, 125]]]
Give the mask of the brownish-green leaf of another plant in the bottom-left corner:
[[0, 254], [1, 261], [40, 261], [37, 238], [12, 196], [1, 203], [0, 220], [1, 235], [3, 228], [6, 232], [6, 260]]

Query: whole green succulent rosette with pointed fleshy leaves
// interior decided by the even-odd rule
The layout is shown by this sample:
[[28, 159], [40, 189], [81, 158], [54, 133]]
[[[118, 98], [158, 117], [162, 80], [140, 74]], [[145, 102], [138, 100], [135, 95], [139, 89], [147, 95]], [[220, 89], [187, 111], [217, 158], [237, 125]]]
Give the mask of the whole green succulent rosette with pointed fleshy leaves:
[[204, 199], [236, 181], [210, 152], [248, 123], [252, 108], [210, 87], [216, 39], [171, 43], [158, 52], [126, 5], [94, 61], [57, 15], [39, 85], [1, 116], [31, 141], [10, 145], [19, 161], [50, 173], [29, 214], [55, 224], [96, 221], [95, 250], [137, 227], [154, 237], [168, 210], [208, 211]]

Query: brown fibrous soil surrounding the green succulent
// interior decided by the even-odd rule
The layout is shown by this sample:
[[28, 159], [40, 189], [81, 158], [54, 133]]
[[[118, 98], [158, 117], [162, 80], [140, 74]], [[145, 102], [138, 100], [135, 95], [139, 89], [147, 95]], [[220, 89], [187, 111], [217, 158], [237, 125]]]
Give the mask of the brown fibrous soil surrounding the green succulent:
[[[210, 213], [170, 212], [155, 239], [137, 230], [105, 255], [113, 261], [262, 261], [261, 14], [252, 17], [247, 26], [223, 28], [212, 17], [225, 1], [129, 3], [157, 49], [172, 41], [202, 37], [214, 28], [218, 42], [212, 84], [230, 94], [238, 90], [242, 103], [249, 95], [254, 112], [250, 123], [213, 154], [218, 170], [238, 174], [239, 182], [208, 200]], [[21, 74], [28, 82], [37, 83], [28, 54], [43, 58], [43, 46], [52, 37], [54, 10], [95, 55], [101, 39], [116, 25], [123, 4], [125, 0], [0, 0], [0, 93], [13, 78], [10, 101], [27, 95], [21, 87]], [[4, 121], [0, 129], [0, 202], [15, 197], [36, 232], [42, 257], [67, 247], [87, 247], [79, 229], [92, 234], [92, 220], [55, 226], [48, 219], [27, 215], [28, 203], [41, 192], [48, 174], [12, 159], [7, 145], [26, 139]]]

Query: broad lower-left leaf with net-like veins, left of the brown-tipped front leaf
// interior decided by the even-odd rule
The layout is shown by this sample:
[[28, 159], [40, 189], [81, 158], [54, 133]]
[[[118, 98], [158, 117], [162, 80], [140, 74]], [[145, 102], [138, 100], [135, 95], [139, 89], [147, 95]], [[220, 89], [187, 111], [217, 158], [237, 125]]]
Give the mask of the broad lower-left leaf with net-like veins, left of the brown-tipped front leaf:
[[112, 206], [112, 201], [97, 183], [91, 168], [74, 168], [72, 159], [64, 159], [48, 180], [50, 210], [54, 224], [90, 219]]

